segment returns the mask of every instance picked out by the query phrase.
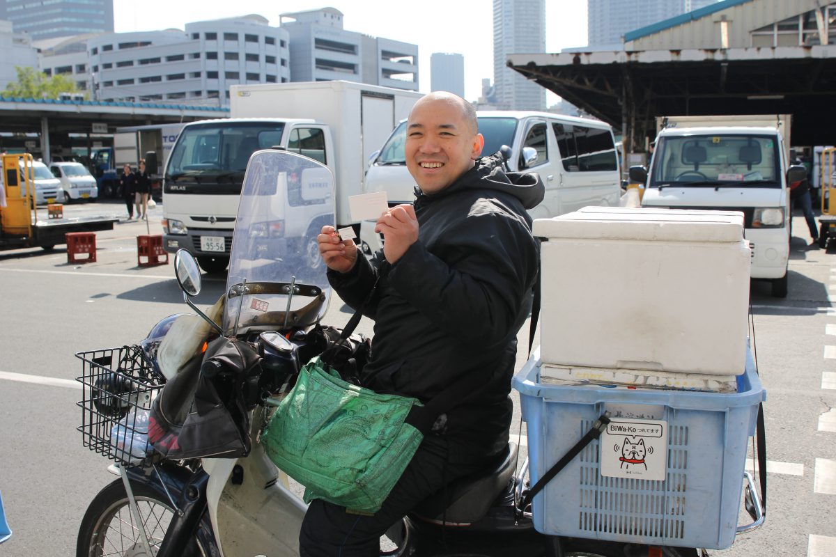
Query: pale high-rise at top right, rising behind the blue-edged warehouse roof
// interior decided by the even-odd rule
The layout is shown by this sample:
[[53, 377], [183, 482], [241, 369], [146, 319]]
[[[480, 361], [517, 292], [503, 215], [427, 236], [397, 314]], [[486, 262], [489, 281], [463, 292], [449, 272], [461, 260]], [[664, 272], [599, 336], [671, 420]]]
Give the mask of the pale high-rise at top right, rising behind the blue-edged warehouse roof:
[[718, 0], [588, 0], [589, 46], [623, 48], [624, 33], [703, 8]]

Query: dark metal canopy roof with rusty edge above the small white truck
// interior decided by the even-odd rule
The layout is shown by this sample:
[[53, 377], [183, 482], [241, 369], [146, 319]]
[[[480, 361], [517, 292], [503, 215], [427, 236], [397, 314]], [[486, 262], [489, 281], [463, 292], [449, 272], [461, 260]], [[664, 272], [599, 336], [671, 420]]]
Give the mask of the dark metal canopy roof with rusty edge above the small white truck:
[[836, 141], [834, 45], [511, 54], [507, 65], [622, 130], [628, 152], [670, 115], [793, 114], [793, 144]]

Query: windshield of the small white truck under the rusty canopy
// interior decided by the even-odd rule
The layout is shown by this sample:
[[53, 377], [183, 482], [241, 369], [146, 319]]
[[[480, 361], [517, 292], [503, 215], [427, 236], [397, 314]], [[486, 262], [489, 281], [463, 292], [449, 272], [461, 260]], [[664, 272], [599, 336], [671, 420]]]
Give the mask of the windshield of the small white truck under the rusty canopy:
[[781, 187], [775, 136], [682, 135], [659, 139], [650, 187]]

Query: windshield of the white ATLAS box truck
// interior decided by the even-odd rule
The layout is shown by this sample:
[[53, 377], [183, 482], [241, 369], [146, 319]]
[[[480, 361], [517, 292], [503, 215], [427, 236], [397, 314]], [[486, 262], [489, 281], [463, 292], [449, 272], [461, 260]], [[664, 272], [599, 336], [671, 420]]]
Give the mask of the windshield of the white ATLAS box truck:
[[201, 178], [231, 175], [247, 169], [250, 155], [259, 149], [281, 144], [283, 123], [207, 122], [186, 126], [166, 169], [166, 177], [184, 175]]

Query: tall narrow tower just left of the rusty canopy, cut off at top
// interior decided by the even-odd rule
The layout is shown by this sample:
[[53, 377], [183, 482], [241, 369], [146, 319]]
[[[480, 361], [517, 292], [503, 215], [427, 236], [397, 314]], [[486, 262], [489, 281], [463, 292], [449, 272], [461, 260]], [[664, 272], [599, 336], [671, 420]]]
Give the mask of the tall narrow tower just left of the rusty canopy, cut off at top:
[[493, 83], [499, 108], [546, 108], [546, 89], [505, 65], [508, 54], [544, 52], [545, 0], [493, 0]]

